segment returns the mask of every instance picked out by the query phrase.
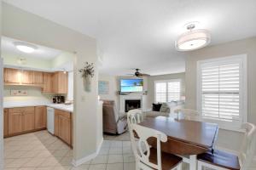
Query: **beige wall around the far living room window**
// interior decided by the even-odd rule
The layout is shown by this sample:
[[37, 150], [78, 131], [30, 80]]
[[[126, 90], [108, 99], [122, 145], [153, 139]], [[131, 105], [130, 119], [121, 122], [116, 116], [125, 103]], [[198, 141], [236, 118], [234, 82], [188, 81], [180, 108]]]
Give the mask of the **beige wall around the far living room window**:
[[152, 104], [154, 103], [154, 82], [161, 80], [172, 80], [172, 79], [180, 79], [181, 80], [181, 95], [185, 95], [185, 73], [176, 73], [176, 74], [167, 74], [167, 75], [159, 75], [148, 77], [148, 102], [147, 107], [150, 109]]

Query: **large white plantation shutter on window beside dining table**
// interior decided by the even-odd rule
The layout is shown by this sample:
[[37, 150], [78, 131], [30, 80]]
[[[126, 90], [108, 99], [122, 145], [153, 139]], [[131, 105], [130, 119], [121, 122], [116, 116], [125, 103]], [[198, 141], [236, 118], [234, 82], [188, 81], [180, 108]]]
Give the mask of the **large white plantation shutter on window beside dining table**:
[[208, 118], [241, 121], [241, 63], [201, 65], [201, 114]]

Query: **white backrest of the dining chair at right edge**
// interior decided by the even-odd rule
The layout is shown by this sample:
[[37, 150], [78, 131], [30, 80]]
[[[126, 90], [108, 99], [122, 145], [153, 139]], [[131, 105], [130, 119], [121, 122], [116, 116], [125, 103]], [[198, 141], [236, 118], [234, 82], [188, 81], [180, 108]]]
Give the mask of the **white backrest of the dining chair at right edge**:
[[252, 123], [244, 123], [241, 127], [245, 130], [244, 138], [240, 150], [240, 165], [241, 169], [245, 170], [253, 161], [253, 156], [256, 150], [256, 127]]

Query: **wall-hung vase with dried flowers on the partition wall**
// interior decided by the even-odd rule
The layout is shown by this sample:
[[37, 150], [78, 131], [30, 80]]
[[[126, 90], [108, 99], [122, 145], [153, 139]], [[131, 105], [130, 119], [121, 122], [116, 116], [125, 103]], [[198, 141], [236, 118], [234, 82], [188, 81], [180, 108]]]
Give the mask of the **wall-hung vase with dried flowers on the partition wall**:
[[91, 78], [94, 77], [94, 66], [93, 63], [85, 62], [84, 68], [80, 69], [79, 72], [83, 78], [84, 91], [90, 92], [91, 90]]

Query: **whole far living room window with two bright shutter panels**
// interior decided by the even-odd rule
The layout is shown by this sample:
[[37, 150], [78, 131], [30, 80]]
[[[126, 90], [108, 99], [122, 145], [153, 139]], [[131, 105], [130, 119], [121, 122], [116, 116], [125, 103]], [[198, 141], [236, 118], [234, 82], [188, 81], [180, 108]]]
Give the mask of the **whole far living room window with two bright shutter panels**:
[[181, 81], [166, 80], [154, 82], [155, 102], [177, 101], [181, 96]]

